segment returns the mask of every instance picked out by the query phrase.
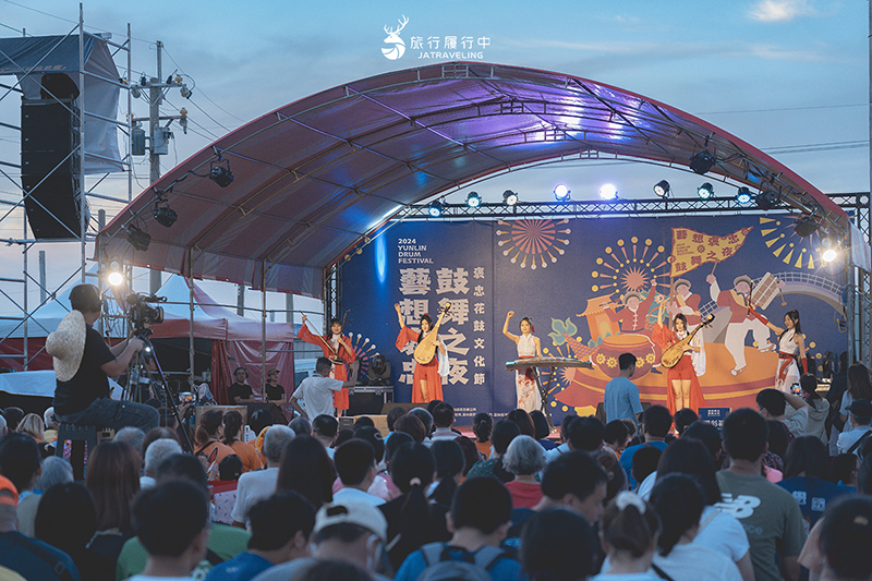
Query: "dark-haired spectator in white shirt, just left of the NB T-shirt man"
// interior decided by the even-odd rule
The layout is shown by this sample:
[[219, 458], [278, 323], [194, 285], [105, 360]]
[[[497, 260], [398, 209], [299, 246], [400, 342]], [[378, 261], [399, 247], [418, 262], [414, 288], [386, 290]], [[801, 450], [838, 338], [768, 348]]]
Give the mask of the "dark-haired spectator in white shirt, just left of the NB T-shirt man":
[[700, 529], [705, 493], [689, 474], [669, 474], [657, 480], [651, 505], [661, 518], [654, 565], [675, 581], [698, 579], [741, 581], [736, 565], [725, 555], [693, 543]]

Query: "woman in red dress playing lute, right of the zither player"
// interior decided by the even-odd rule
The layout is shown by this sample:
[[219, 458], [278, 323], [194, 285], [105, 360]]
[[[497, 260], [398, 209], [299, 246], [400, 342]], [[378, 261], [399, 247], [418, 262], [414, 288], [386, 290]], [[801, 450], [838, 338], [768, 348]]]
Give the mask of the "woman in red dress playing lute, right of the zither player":
[[[666, 328], [662, 323], [657, 323], [651, 338], [666, 350], [687, 337], [688, 332], [688, 319], [679, 313], [673, 319], [673, 330]], [[675, 367], [666, 372], [666, 404], [671, 414], [685, 408], [695, 412], [705, 407], [705, 398], [702, 396], [692, 359], [694, 353], [700, 353], [702, 347], [694, 337], [690, 344], [685, 347], [685, 354], [681, 355]]]

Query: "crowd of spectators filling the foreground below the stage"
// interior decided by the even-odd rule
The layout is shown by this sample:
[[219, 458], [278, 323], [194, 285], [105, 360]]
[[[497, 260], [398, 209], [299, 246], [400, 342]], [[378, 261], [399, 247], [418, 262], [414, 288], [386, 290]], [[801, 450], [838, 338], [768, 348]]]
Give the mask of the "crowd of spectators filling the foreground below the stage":
[[391, 410], [384, 437], [368, 417], [253, 414], [244, 441], [238, 412], [206, 409], [185, 452], [161, 414], [88, 450], [81, 482], [51, 410], [10, 408], [0, 579], [872, 580], [858, 365], [840, 396], [806, 376], [802, 396], [764, 389], [723, 429], [632, 404], [567, 416], [559, 439], [540, 412], [480, 413], [467, 437], [434, 401]]

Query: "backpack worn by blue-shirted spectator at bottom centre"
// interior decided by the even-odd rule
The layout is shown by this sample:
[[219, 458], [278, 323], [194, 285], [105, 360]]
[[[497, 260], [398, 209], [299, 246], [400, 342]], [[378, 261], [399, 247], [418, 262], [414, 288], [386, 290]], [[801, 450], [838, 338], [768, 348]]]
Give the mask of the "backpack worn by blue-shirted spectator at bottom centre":
[[[510, 558], [501, 548], [484, 546], [475, 553], [446, 543], [429, 543], [421, 547], [426, 569], [419, 580], [423, 581], [491, 581], [491, 569], [504, 558]], [[460, 560], [457, 556], [460, 555]]]

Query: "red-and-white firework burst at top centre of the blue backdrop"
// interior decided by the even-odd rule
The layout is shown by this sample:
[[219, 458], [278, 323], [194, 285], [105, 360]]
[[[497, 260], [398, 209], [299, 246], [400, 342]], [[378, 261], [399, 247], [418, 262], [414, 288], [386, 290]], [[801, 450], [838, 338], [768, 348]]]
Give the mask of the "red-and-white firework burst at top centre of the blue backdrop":
[[[497, 230], [497, 237], [508, 237], [500, 240], [497, 245], [502, 247], [504, 256], [511, 256], [511, 264], [518, 264], [521, 258], [521, 268], [526, 268], [528, 261], [530, 269], [535, 270], [537, 266], [546, 268], [548, 263], [556, 263], [557, 257], [566, 253], [569, 240], [558, 238], [569, 235], [569, 228], [558, 229], [560, 226], [569, 223], [568, 219], [562, 220], [512, 220], [510, 222], [499, 220], [500, 226], [506, 226], [509, 230]], [[560, 246], [562, 244], [562, 247]]]

